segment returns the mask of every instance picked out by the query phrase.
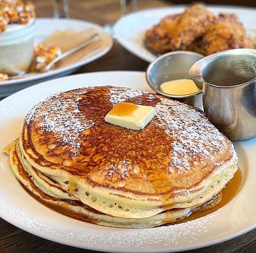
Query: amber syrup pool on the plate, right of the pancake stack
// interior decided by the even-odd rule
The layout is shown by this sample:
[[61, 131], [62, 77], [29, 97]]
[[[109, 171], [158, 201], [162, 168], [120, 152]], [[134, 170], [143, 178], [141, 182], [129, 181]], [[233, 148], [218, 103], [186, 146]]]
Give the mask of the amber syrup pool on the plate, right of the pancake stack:
[[219, 208], [223, 207], [228, 202], [230, 202], [238, 194], [238, 192], [242, 187], [242, 180], [243, 180], [242, 172], [240, 169], [238, 169], [237, 172], [234, 174], [234, 177], [227, 183], [226, 187], [222, 190], [223, 197], [220, 203], [218, 203], [217, 205], [213, 206], [210, 209], [192, 213], [189, 217], [177, 223], [192, 221], [217, 211]]

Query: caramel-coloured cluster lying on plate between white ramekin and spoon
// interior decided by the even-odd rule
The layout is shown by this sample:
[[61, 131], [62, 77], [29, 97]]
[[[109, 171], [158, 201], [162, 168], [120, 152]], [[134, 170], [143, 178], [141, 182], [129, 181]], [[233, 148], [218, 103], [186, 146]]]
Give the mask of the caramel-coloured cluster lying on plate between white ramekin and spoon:
[[58, 47], [45, 47], [42, 44], [36, 45], [34, 48], [34, 57], [30, 67], [30, 71], [44, 72], [47, 64], [54, 60], [60, 54], [61, 50]]

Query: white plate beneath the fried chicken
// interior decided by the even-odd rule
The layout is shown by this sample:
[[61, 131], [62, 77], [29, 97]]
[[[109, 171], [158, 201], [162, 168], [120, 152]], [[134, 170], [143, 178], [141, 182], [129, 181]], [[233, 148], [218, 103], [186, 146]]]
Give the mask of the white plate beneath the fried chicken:
[[[215, 14], [220, 12], [237, 14], [247, 31], [256, 33], [256, 8], [220, 5], [208, 5], [206, 7]], [[157, 55], [145, 47], [145, 31], [165, 16], [183, 12], [184, 8], [184, 5], [172, 5], [165, 8], [138, 11], [124, 16], [114, 25], [114, 38], [128, 51], [147, 62], [152, 62]]]

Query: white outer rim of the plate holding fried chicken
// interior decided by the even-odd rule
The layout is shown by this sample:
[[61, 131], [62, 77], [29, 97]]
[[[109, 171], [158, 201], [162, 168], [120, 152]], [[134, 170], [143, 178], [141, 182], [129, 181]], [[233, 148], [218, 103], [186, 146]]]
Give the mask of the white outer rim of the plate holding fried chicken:
[[[120, 19], [118, 19], [116, 21], [116, 23], [114, 24], [114, 28], [113, 28], [113, 33], [114, 33], [114, 38], [118, 41], [118, 43], [120, 43], [126, 50], [130, 51], [131, 53], [133, 53], [134, 55], [138, 56], [139, 58], [141, 58], [142, 60], [146, 61], [146, 62], [152, 62], [153, 60], [155, 60], [157, 58], [156, 55], [154, 55], [152, 52], [150, 52], [149, 50], [147, 50], [145, 47], [143, 47], [143, 49], [145, 51], [147, 51], [147, 53], [143, 53], [143, 51], [141, 51], [139, 48], [134, 47], [132, 45], [132, 43], [127, 40], [127, 38], [124, 38], [119, 30], [124, 29], [124, 21], [128, 20], [132, 17], [136, 17], [138, 15], [143, 15], [143, 14], [149, 14], [149, 13], [154, 13], [155, 11], [167, 11], [169, 10], [170, 14], [171, 13], [176, 13], [177, 11], [181, 11], [181, 8], [185, 8], [189, 6], [188, 4], [173, 4], [170, 6], [166, 6], [166, 7], [158, 7], [158, 8], [149, 8], [149, 9], [144, 9], [144, 10], [140, 10], [140, 11], [135, 11], [131, 14], [127, 14], [123, 17], [121, 17]], [[236, 12], [236, 11], [242, 11], [242, 10], [250, 10], [250, 11], [255, 11], [256, 12], [256, 8], [254, 7], [247, 7], [247, 6], [238, 6], [238, 5], [211, 5], [211, 4], [206, 4], [206, 7], [209, 10], [215, 10], [215, 9], [220, 9], [223, 12]], [[162, 18], [165, 15], [162, 16]], [[150, 28], [150, 27], [148, 27]]]

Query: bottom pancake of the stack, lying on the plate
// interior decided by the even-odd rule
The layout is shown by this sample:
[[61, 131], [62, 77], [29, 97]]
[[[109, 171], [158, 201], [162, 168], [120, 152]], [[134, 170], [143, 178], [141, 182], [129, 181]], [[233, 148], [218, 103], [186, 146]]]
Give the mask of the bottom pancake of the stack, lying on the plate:
[[[118, 218], [100, 213], [89, 206], [86, 206], [82, 202], [59, 199], [52, 197], [51, 194], [46, 194], [44, 191], [40, 190], [39, 187], [37, 187], [37, 185], [34, 183], [33, 177], [30, 176], [24, 169], [26, 165], [24, 164], [24, 158], [22, 158], [22, 154], [19, 150], [18, 142], [12, 145], [8, 153], [10, 154], [12, 172], [33, 197], [62, 214], [101, 226], [120, 228], [150, 228], [168, 223], [171, 224], [189, 216], [193, 211], [211, 208], [222, 200], [222, 193], [220, 193], [210, 202], [198, 207], [165, 211], [161, 214], [154, 215], [153, 217], [142, 219]], [[51, 183], [48, 182], [48, 184]], [[48, 185], [48, 187], [52, 189], [50, 185]]]

